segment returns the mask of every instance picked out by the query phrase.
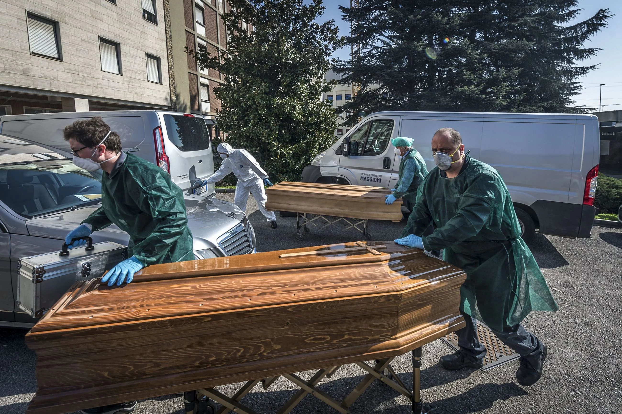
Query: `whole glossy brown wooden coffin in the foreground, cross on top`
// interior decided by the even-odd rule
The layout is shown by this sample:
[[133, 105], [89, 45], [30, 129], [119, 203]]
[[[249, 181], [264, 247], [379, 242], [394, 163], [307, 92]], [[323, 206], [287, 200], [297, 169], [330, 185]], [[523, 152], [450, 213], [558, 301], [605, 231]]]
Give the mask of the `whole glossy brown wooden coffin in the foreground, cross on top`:
[[[464, 326], [462, 270], [419, 249], [367, 245], [386, 247], [155, 265], [121, 287], [77, 282], [26, 336], [38, 385], [27, 413], [389, 357]], [[302, 252], [312, 253], [291, 255]]]

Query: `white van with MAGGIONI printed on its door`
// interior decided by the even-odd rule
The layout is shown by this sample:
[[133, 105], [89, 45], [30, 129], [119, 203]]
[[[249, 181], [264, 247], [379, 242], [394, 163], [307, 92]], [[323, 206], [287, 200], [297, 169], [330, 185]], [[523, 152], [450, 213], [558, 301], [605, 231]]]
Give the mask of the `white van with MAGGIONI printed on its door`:
[[562, 237], [590, 237], [600, 157], [594, 115], [377, 112], [318, 154], [302, 172], [302, 181], [392, 188], [400, 160], [391, 138], [414, 139], [413, 147], [432, 170], [432, 136], [440, 128], [456, 129], [471, 157], [501, 173], [525, 240], [536, 228]]

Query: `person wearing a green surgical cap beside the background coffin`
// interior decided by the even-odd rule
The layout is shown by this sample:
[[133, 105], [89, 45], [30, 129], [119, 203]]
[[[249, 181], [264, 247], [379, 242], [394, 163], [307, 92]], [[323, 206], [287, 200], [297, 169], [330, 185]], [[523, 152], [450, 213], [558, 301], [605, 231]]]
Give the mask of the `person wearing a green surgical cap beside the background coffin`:
[[401, 158], [399, 162], [399, 178], [391, 194], [385, 195], [386, 204], [393, 204], [402, 197], [404, 205], [409, 211], [415, 205], [417, 189], [427, 176], [427, 167], [421, 154], [412, 148], [412, 138], [398, 136], [391, 139], [395, 153]]

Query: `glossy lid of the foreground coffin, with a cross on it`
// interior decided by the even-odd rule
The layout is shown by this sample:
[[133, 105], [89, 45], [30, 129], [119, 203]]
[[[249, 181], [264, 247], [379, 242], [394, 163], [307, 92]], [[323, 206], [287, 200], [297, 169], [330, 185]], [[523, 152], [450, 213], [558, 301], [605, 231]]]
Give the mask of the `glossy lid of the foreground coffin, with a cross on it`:
[[[147, 319], [165, 323], [166, 319], [262, 306], [399, 294], [463, 274], [422, 250], [392, 242], [366, 243], [371, 248], [386, 246], [377, 247], [376, 254], [340, 253], [360, 245], [345, 243], [154, 265], [136, 273], [134, 281], [123, 286], [108, 287], [97, 279], [77, 282], [31, 334]], [[315, 251], [334, 253], [279, 257]]]

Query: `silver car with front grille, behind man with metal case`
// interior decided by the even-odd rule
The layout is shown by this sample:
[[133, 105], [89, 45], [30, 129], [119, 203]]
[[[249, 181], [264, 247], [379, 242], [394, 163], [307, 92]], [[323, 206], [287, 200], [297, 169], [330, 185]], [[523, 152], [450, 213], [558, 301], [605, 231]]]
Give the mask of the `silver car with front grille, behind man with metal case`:
[[[70, 230], [101, 204], [101, 183], [67, 154], [0, 134], [0, 326], [30, 327], [16, 306], [17, 260], [60, 250]], [[234, 204], [184, 195], [196, 258], [253, 253], [255, 236]], [[127, 245], [115, 225], [93, 241]]]

